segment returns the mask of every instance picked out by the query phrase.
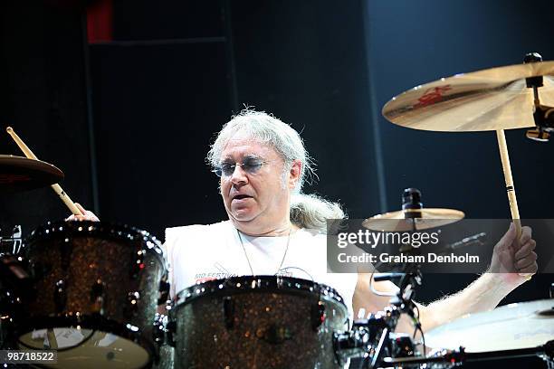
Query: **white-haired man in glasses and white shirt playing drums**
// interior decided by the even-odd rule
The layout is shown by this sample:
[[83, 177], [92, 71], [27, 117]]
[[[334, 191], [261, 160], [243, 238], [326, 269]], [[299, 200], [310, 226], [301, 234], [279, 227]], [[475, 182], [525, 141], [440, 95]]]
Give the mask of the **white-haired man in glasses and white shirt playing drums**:
[[[224, 125], [207, 158], [220, 177], [229, 219], [167, 229], [172, 296], [209, 279], [280, 274], [330, 285], [351, 301], [351, 313], [388, 305], [388, 298], [368, 289], [368, 274], [327, 272], [326, 219], [340, 219], [344, 213], [337, 203], [301, 193], [311, 168], [298, 132], [278, 118], [246, 109]], [[90, 212], [77, 219], [97, 220]], [[522, 274], [535, 273], [537, 255], [530, 228], [523, 227], [521, 239], [515, 239], [511, 226], [494, 248], [491, 269], [510, 266], [505, 273], [485, 273], [453, 296], [419, 305], [423, 329], [492, 309], [528, 279]], [[396, 291], [391, 282], [374, 286]], [[413, 328], [408, 319], [401, 319], [398, 330]]]

